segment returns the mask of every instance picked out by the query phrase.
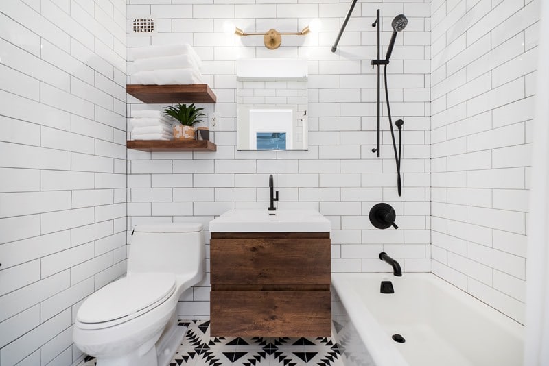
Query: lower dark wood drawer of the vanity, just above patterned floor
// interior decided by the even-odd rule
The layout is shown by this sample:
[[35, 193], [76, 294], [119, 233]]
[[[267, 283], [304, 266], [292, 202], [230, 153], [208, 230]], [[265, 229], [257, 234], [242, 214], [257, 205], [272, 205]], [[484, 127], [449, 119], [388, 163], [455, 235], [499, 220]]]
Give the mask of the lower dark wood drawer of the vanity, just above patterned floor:
[[329, 291], [211, 291], [212, 337], [329, 337]]

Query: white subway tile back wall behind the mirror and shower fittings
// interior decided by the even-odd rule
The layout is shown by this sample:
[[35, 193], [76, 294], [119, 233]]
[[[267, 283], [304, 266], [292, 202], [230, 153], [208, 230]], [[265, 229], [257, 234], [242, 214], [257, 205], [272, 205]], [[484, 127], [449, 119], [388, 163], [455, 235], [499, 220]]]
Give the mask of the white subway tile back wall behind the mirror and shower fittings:
[[[218, 131], [210, 132], [218, 145], [215, 153], [128, 151], [128, 230], [138, 223], [188, 220], [201, 222], [207, 229], [211, 219], [231, 208], [266, 208], [268, 176], [273, 174], [274, 186], [280, 191], [279, 208], [314, 208], [329, 217], [332, 271], [389, 272], [390, 266], [378, 258], [383, 250], [397, 258], [404, 271], [431, 270], [430, 1], [359, 1], [338, 50], [331, 53], [349, 5], [335, 0], [129, 0], [128, 21], [152, 16], [161, 26], [151, 36], [128, 33], [128, 70], [134, 47], [190, 42], [202, 58], [205, 81], [218, 97], [215, 105], [200, 106], [209, 115], [220, 113], [221, 119]], [[393, 17], [406, 14], [409, 20], [397, 36], [388, 65], [393, 121], [405, 121], [402, 197], [397, 195], [385, 103], [382, 156], [376, 158], [371, 152], [376, 113], [375, 70], [370, 64], [376, 56], [375, 28], [371, 23], [377, 8], [382, 16], [382, 54], [393, 30]], [[276, 50], [266, 49], [262, 36], [240, 38], [223, 32], [226, 20], [244, 32], [272, 27], [296, 32], [315, 17], [322, 21], [320, 33], [282, 36]], [[235, 60], [254, 57], [307, 59], [308, 151], [236, 150]], [[265, 85], [277, 83], [259, 84], [255, 95], [261, 103], [276, 102], [277, 94]], [[128, 103], [128, 115], [131, 110], [164, 107], [144, 106], [132, 98]], [[371, 225], [369, 210], [378, 202], [395, 207], [399, 230], [380, 231]], [[207, 231], [206, 239], [209, 243]], [[209, 276], [180, 299], [178, 314], [209, 315], [208, 291]]]

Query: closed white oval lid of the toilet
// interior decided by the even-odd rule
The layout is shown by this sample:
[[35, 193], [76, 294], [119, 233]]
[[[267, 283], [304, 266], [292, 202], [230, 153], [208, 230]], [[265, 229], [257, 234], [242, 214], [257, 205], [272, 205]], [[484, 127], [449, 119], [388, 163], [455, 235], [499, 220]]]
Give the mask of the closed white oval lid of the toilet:
[[126, 317], [167, 298], [174, 289], [172, 273], [133, 273], [91, 294], [78, 309], [76, 319], [100, 323]]

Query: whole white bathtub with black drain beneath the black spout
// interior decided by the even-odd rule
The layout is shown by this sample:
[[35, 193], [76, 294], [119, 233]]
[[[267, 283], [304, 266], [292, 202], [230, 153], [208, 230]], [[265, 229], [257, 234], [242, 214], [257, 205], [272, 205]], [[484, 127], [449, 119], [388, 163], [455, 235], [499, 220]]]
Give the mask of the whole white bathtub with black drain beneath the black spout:
[[[380, 293], [382, 280], [393, 282], [395, 293]], [[523, 363], [521, 324], [431, 273], [333, 273], [331, 283], [350, 319], [334, 319], [346, 366]]]

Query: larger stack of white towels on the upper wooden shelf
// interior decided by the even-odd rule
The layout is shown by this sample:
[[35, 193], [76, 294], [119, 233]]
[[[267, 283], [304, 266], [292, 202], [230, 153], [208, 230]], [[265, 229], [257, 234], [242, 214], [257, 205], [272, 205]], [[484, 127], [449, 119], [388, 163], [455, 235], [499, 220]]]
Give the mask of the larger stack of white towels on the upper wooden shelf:
[[202, 61], [189, 44], [139, 47], [132, 55], [132, 84], [204, 84]]

